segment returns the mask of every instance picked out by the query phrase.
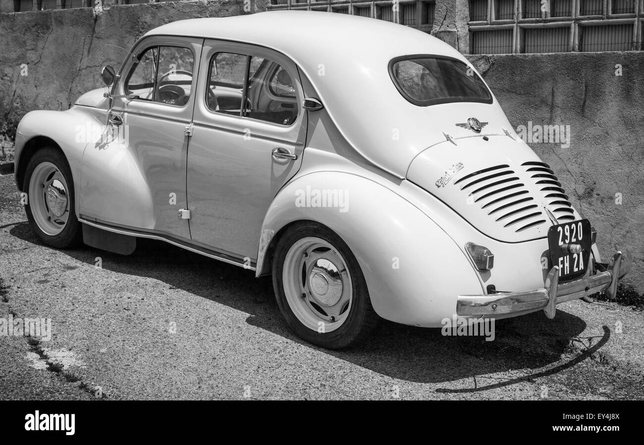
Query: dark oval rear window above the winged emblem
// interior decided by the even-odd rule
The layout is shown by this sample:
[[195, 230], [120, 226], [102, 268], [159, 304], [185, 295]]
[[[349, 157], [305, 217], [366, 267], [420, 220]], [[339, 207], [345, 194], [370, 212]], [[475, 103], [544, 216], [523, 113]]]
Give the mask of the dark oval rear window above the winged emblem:
[[393, 84], [412, 104], [426, 107], [449, 102], [492, 103], [483, 80], [460, 60], [405, 56], [393, 59], [389, 67]]

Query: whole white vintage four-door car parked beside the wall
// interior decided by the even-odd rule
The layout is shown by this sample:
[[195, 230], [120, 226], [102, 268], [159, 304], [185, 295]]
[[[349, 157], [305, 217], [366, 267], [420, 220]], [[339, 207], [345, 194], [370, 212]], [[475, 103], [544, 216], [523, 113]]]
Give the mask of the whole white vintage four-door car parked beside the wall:
[[379, 317], [545, 311], [615, 295], [591, 223], [460, 53], [399, 24], [323, 12], [177, 21], [109, 89], [33, 111], [15, 181], [48, 245], [137, 237], [272, 274], [290, 327], [332, 349]]

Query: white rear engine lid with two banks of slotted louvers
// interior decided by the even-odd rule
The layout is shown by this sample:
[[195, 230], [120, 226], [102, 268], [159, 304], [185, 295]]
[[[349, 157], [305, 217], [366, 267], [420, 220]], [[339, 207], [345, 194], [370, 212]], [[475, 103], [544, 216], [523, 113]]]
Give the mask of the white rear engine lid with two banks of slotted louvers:
[[579, 215], [553, 170], [508, 136], [445, 141], [413, 159], [407, 179], [448, 204], [480, 232], [504, 242], [547, 236]]

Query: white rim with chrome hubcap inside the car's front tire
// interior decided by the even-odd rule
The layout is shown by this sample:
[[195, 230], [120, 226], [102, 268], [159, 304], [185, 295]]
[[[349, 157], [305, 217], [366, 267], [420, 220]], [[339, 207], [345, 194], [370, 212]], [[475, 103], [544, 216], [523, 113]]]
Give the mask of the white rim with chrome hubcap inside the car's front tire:
[[47, 235], [62, 232], [70, 215], [67, 182], [61, 170], [50, 162], [39, 164], [29, 183], [29, 206], [33, 219]]

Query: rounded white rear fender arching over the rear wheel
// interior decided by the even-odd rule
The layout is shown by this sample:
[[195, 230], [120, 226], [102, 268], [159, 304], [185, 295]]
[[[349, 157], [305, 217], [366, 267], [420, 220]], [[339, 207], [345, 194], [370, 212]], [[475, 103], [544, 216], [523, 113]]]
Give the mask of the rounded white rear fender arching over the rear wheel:
[[[303, 201], [316, 190], [345, 199], [337, 205], [329, 199], [327, 206]], [[392, 190], [346, 172], [305, 174], [281, 190], [263, 222], [258, 275], [270, 239], [301, 220], [325, 224], [346, 242], [376, 313], [387, 320], [439, 327], [455, 314], [457, 295], [482, 293], [471, 264], [448, 233]]]

